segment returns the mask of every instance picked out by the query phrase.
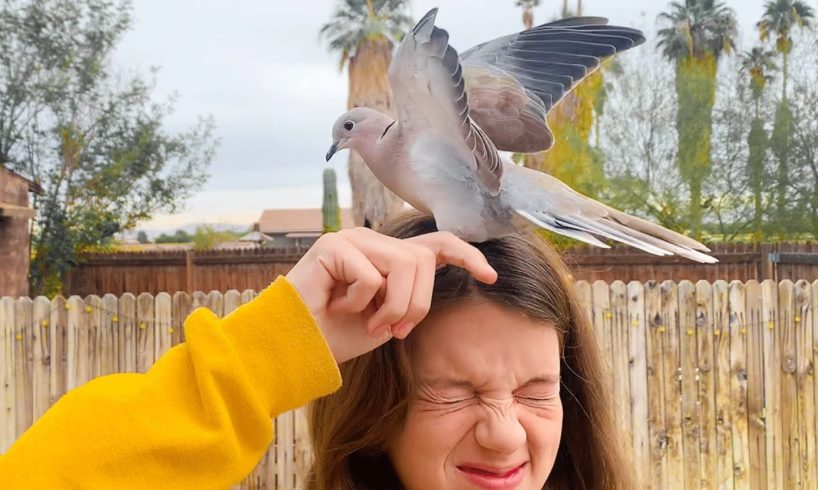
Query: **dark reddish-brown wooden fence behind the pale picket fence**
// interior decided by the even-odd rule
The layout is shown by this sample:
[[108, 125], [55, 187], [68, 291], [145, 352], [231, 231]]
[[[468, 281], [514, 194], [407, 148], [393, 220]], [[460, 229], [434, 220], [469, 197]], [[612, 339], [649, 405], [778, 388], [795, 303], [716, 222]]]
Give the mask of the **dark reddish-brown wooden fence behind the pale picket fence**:
[[[578, 247], [564, 253], [575, 279], [585, 281], [761, 281], [818, 279], [818, 242], [716, 244], [718, 264], [656, 257], [629, 247]], [[301, 258], [304, 248], [123, 252], [85, 255], [67, 275], [66, 294], [123, 294], [263, 289]]]

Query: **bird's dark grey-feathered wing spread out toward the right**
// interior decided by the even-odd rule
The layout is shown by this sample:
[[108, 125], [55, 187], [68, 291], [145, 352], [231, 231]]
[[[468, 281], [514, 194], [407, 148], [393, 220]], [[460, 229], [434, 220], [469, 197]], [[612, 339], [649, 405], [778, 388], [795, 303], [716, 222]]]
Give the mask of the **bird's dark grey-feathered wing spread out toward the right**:
[[641, 31], [576, 17], [479, 44], [460, 56], [472, 119], [497, 148], [547, 150], [546, 116], [600, 63], [645, 41]]

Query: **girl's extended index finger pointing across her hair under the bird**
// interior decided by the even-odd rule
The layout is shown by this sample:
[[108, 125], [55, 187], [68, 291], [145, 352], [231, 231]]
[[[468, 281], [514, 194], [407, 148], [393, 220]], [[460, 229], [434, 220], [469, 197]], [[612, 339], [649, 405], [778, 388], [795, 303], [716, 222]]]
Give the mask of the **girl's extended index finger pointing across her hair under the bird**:
[[437, 257], [437, 264], [456, 265], [467, 270], [480, 282], [494, 284], [497, 271], [489, 265], [485, 255], [474, 245], [448, 232], [435, 232], [407, 238], [407, 241], [422, 245]]

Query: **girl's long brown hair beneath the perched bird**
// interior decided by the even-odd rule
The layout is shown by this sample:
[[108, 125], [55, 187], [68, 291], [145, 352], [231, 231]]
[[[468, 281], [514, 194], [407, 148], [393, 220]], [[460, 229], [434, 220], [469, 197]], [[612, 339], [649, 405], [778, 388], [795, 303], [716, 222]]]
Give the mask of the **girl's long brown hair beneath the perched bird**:
[[[408, 238], [431, 233], [435, 225], [431, 218], [409, 213], [382, 231]], [[444, 267], [435, 277], [432, 311], [482, 298], [556, 327], [564, 418], [557, 459], [544, 488], [635, 488], [603, 382], [601, 351], [565, 264], [531, 233], [475, 246], [497, 270], [497, 282], [485, 285], [462, 269]], [[412, 393], [407, 348], [407, 342], [392, 340], [343, 364], [343, 387], [311, 405], [315, 459], [308, 490], [402, 488], [387, 448], [403, 427]]]

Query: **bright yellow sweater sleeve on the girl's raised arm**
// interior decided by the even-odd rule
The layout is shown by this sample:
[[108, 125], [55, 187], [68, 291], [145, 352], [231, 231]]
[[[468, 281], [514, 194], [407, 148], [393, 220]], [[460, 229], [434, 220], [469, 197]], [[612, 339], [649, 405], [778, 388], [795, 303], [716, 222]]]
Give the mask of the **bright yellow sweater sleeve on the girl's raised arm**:
[[145, 374], [100, 377], [63, 396], [0, 456], [0, 487], [228, 488], [264, 455], [273, 417], [341, 384], [281, 277], [224, 319], [194, 311], [185, 336]]

